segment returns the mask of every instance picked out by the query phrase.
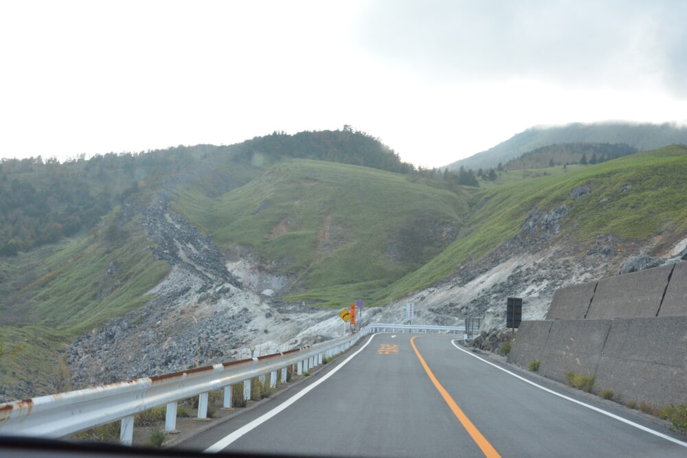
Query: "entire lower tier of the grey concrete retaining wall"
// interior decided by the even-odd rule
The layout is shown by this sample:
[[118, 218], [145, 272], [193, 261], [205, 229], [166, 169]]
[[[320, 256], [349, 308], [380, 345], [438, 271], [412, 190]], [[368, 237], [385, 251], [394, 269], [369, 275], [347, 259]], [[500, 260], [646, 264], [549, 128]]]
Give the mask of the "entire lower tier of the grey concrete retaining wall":
[[687, 317], [523, 321], [508, 361], [534, 359], [559, 382], [594, 374], [594, 393], [612, 389], [621, 402], [687, 404]]

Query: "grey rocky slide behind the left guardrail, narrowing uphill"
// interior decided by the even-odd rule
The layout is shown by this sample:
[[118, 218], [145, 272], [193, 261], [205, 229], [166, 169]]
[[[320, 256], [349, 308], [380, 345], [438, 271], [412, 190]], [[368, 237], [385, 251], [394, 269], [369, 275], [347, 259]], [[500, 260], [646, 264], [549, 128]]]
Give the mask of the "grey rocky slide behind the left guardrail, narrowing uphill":
[[[67, 349], [72, 385], [85, 387], [273, 353], [341, 334], [331, 310], [244, 288], [209, 237], [170, 211], [145, 211], [155, 255], [172, 266], [142, 310], [80, 336]], [[230, 265], [232, 263], [229, 263]], [[334, 319], [335, 318], [335, 319]]]

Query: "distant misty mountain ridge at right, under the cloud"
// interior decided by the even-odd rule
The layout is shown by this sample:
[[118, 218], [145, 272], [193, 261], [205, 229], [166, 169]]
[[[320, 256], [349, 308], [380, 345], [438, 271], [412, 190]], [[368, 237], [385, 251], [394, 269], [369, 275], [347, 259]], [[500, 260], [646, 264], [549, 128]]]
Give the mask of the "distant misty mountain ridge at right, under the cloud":
[[556, 127], [532, 127], [510, 139], [473, 154], [471, 157], [450, 163], [449, 170], [496, 167], [521, 154], [542, 146], [561, 143], [627, 144], [638, 151], [653, 150], [673, 144], [687, 144], [687, 128], [674, 124], [633, 124], [629, 122], [574, 123]]

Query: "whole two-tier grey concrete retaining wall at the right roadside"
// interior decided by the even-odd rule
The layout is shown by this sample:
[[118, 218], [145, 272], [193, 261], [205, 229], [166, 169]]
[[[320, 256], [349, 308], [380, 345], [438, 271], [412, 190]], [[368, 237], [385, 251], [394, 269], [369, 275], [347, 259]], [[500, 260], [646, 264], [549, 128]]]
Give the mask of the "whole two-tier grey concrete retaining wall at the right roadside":
[[546, 317], [522, 322], [510, 363], [593, 374], [620, 402], [687, 404], [687, 262], [559, 288]]

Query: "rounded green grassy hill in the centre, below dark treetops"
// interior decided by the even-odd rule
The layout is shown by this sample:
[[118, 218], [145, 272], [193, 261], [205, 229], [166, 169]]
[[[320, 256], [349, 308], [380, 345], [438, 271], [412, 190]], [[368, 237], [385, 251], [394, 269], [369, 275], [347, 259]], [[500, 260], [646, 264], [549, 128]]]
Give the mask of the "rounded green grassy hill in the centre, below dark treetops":
[[[340, 306], [369, 297], [437, 255], [440, 247], [423, 239], [422, 226], [438, 221], [458, 227], [467, 205], [401, 174], [296, 159], [219, 198], [181, 192], [174, 209], [211, 233], [218, 247], [251, 247], [271, 260], [273, 271], [297, 277], [306, 292], [288, 299]], [[323, 249], [323, 239], [333, 244]], [[390, 257], [394, 240], [403, 240], [409, 255]]]

